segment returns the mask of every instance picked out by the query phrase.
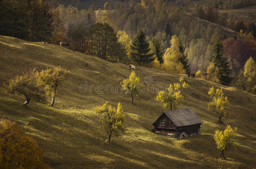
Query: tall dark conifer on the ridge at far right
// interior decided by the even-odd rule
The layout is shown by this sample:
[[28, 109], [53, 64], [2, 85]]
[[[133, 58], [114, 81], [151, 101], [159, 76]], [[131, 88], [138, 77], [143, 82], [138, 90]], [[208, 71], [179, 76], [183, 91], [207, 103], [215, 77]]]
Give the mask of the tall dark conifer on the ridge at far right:
[[230, 64], [227, 58], [224, 58], [223, 44], [221, 41], [217, 41], [212, 48], [213, 55], [210, 55], [209, 61], [214, 63], [214, 66], [219, 68], [220, 81], [223, 85], [229, 85], [232, 78], [229, 76], [231, 73]]

